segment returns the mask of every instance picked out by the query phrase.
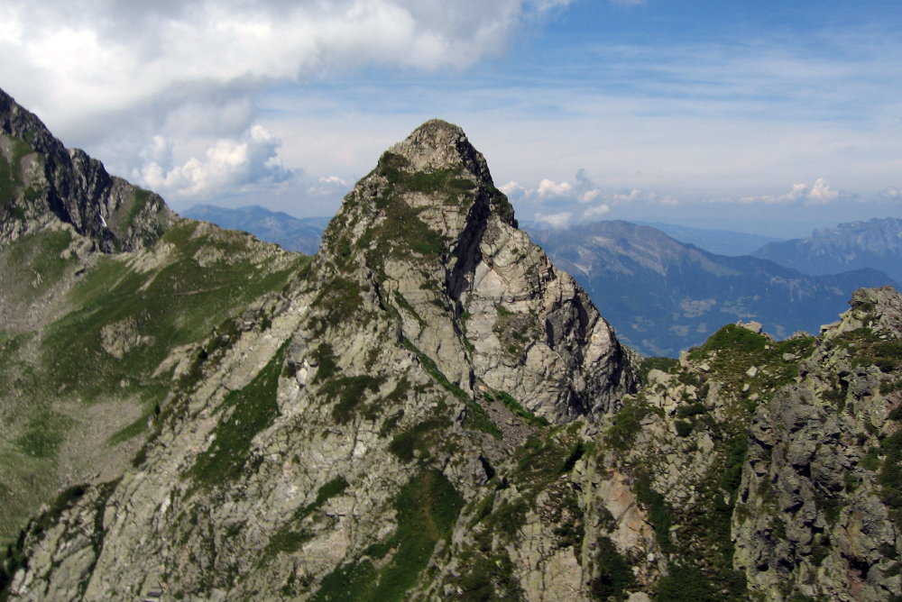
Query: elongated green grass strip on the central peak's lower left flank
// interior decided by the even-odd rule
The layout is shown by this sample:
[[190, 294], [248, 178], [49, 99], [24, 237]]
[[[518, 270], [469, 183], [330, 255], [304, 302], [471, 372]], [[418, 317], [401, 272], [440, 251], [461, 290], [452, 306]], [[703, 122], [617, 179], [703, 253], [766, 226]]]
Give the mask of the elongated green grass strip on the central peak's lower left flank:
[[216, 424], [214, 441], [189, 470], [199, 486], [214, 488], [244, 473], [253, 437], [279, 415], [276, 392], [284, 354], [283, 346], [245, 388], [226, 396], [220, 410], [231, 413]]

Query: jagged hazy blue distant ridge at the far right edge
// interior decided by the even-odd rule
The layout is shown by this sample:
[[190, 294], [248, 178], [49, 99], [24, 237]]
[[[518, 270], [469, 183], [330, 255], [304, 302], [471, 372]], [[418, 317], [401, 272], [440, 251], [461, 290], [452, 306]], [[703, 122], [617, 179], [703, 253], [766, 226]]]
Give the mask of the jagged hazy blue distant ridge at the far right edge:
[[873, 268], [902, 280], [902, 219], [840, 223], [808, 238], [770, 242], [752, 254], [806, 274]]

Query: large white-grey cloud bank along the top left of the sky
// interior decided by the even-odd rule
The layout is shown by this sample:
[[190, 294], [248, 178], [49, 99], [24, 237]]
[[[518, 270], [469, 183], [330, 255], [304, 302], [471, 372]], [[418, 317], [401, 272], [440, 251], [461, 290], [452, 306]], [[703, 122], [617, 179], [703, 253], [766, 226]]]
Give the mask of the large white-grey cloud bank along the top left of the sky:
[[[0, 81], [54, 115], [191, 84], [299, 81], [362, 64], [463, 68], [568, 0], [49, 0], [0, 7]], [[34, 77], [40, 74], [40, 77]]]

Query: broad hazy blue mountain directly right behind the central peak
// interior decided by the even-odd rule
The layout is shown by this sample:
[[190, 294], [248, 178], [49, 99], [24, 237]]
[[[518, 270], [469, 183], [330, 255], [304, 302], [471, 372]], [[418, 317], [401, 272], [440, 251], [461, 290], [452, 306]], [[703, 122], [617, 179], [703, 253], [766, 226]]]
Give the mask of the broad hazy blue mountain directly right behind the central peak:
[[621, 340], [649, 355], [674, 356], [737, 320], [760, 322], [779, 338], [817, 333], [856, 288], [894, 284], [875, 269], [806, 276], [769, 260], [702, 251], [628, 222], [528, 232], [585, 288]]

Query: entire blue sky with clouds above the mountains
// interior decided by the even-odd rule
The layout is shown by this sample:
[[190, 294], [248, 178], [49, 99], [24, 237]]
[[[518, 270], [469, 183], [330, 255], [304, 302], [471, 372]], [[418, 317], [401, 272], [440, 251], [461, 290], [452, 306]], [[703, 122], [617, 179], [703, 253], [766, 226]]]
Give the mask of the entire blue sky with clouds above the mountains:
[[5, 0], [0, 87], [176, 210], [334, 214], [419, 123], [521, 219], [902, 217], [897, 0]]

